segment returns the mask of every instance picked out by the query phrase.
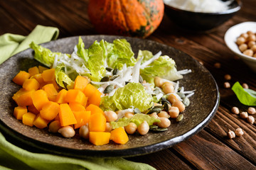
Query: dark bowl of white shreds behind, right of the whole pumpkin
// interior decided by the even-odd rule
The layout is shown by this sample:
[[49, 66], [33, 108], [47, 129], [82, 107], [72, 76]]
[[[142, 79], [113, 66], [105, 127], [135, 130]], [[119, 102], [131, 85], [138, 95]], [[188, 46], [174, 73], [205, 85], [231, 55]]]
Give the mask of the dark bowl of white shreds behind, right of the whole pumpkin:
[[189, 0], [181, 0], [183, 3], [178, 1], [179, 4], [175, 4], [175, 1], [177, 0], [164, 0], [166, 15], [181, 28], [194, 31], [217, 28], [232, 18], [242, 7], [240, 0], [218, 0], [218, 3], [225, 5], [225, 8], [219, 8], [220, 11], [218, 11], [218, 4], [214, 6], [213, 1], [211, 1], [212, 6], [208, 6], [209, 11], [206, 11], [206, 7], [201, 6], [202, 8], [199, 8], [196, 6], [198, 4], [192, 0], [190, 0], [191, 4], [188, 4]]

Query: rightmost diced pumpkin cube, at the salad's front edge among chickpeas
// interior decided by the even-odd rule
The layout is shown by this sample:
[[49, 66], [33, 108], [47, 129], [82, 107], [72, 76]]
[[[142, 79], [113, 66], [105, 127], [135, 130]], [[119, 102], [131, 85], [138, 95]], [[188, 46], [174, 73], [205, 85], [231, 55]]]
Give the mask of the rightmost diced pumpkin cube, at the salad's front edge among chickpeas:
[[127, 132], [125, 132], [124, 128], [120, 127], [111, 131], [110, 140], [113, 140], [118, 144], [125, 144], [128, 142], [129, 137]]

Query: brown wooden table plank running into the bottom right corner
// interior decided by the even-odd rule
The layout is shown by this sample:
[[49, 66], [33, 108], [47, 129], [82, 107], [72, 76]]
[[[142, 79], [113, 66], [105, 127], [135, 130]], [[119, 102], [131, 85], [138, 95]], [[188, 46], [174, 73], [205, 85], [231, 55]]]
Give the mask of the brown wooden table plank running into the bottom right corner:
[[255, 169], [255, 166], [202, 130], [190, 139], [174, 146], [197, 169]]

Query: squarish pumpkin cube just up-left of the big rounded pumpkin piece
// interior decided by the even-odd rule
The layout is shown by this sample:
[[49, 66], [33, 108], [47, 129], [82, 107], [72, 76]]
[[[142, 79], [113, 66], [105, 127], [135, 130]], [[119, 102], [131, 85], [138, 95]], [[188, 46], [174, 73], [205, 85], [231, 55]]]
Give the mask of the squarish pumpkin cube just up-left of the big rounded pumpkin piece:
[[43, 91], [42, 89], [34, 91], [32, 94], [32, 101], [36, 109], [38, 111], [41, 111], [43, 105], [45, 105], [49, 101], [46, 91]]

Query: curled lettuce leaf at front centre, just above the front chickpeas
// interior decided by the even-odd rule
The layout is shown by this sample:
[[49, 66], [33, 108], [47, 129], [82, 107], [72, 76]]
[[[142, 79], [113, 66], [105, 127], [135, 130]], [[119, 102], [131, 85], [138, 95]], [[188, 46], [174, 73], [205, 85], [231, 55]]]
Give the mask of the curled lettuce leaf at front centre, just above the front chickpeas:
[[152, 101], [152, 96], [146, 93], [142, 84], [129, 83], [117, 89], [113, 96], [103, 96], [100, 108], [104, 111], [118, 111], [134, 106], [134, 108], [139, 108], [139, 111], [144, 112], [152, 106]]

